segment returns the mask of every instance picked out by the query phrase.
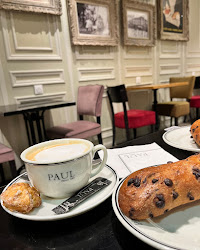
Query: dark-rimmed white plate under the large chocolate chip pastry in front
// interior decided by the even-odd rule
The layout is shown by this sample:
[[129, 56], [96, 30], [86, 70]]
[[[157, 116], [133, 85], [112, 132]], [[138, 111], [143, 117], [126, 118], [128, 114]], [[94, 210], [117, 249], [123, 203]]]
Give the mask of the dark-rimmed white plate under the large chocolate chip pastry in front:
[[143, 221], [131, 220], [119, 208], [122, 179], [112, 195], [114, 212], [134, 236], [157, 249], [200, 249], [200, 201], [175, 208], [163, 216]]

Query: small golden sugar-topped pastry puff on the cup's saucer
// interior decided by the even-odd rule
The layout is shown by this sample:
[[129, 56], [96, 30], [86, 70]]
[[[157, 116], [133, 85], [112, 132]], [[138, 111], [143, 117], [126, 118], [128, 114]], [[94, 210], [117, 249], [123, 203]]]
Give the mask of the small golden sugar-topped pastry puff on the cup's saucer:
[[41, 205], [39, 192], [28, 183], [14, 183], [2, 194], [3, 205], [11, 211], [29, 213], [34, 207]]

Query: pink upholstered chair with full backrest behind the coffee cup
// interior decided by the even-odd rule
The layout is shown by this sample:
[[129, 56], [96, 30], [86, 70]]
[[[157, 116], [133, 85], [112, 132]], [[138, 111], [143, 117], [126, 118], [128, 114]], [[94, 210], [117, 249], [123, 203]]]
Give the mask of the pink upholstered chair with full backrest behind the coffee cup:
[[[101, 106], [104, 87], [102, 85], [87, 85], [78, 88], [77, 112], [80, 120], [55, 126], [46, 130], [48, 139], [81, 138], [87, 139], [101, 136]], [[96, 121], [83, 120], [84, 115], [96, 117]]]

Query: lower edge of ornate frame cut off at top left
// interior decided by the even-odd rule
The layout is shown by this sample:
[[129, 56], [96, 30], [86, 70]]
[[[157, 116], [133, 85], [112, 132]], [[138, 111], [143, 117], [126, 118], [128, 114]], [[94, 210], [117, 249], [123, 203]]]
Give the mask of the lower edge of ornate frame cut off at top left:
[[62, 14], [60, 0], [0, 0], [0, 9]]

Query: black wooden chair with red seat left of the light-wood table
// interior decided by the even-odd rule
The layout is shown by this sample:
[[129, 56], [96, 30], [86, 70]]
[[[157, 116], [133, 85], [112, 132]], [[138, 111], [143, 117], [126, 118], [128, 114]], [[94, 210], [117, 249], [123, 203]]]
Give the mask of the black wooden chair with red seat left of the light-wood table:
[[[115, 144], [115, 127], [126, 129], [127, 140], [130, 140], [130, 128], [133, 129], [134, 137], [136, 137], [136, 129], [140, 127], [151, 125], [153, 132], [153, 125], [156, 123], [155, 112], [138, 109], [127, 110], [128, 96], [124, 84], [107, 87], [107, 94], [112, 113], [113, 146]], [[113, 103], [122, 103], [123, 111], [115, 114]]]

